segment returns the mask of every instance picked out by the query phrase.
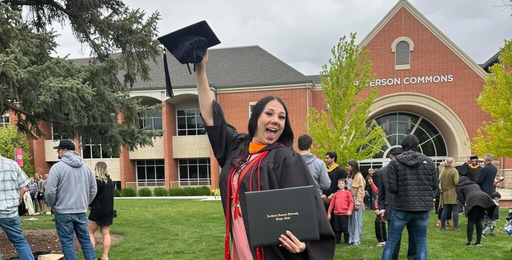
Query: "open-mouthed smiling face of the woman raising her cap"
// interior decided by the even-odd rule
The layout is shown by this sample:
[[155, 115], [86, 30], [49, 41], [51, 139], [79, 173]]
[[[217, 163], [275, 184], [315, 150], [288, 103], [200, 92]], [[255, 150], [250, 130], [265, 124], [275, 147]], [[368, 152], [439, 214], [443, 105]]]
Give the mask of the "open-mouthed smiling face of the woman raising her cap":
[[283, 133], [286, 111], [277, 100], [267, 103], [258, 118], [258, 127], [252, 141], [270, 145], [275, 143]]

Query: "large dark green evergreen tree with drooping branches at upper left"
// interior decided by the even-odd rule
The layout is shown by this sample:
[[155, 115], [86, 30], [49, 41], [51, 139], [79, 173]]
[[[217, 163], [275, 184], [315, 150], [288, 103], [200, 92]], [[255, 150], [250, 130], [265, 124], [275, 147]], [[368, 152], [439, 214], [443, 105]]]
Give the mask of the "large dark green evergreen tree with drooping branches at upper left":
[[[0, 13], [0, 113], [13, 111], [20, 133], [41, 136], [46, 121], [63, 138], [102, 144], [109, 154], [152, 144], [159, 133], [139, 129], [137, 112], [146, 107], [130, 98], [130, 88], [150, 79], [146, 61], [158, 56], [158, 13], [145, 17], [118, 0], [0, 0]], [[57, 43], [47, 28], [54, 23], [69, 23], [89, 46], [87, 64], [50, 56]], [[111, 114], [121, 112], [118, 123]]]

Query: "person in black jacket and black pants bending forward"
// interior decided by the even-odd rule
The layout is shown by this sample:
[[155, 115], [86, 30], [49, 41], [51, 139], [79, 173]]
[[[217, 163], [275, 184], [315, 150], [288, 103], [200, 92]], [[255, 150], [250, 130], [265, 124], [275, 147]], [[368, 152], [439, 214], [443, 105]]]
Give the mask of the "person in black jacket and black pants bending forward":
[[467, 217], [467, 244], [473, 245], [473, 227], [477, 229], [477, 242], [475, 246], [482, 246], [482, 219], [485, 211], [493, 212], [496, 207], [488, 194], [480, 190], [480, 187], [469, 178], [462, 176], [457, 184], [457, 199], [464, 205], [464, 213]]

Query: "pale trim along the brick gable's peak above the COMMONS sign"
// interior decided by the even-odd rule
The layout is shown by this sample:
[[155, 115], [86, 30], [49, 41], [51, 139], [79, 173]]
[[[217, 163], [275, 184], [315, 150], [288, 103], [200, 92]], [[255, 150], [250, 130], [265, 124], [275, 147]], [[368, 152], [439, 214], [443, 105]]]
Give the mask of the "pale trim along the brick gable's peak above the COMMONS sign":
[[444, 35], [437, 27], [433, 25], [423, 14], [421, 14], [411, 3], [407, 0], [399, 0], [398, 3], [377, 23], [377, 26], [359, 43], [361, 46], [366, 46], [377, 33], [393, 18], [393, 16], [401, 9], [406, 9], [413, 17], [415, 17], [426, 29], [428, 29], [434, 36], [436, 36], [444, 45], [446, 45], [452, 52], [455, 53], [464, 63], [472, 68], [475, 73], [482, 79], [487, 77], [487, 73], [480, 67], [470, 56], [467, 56], [450, 38]]

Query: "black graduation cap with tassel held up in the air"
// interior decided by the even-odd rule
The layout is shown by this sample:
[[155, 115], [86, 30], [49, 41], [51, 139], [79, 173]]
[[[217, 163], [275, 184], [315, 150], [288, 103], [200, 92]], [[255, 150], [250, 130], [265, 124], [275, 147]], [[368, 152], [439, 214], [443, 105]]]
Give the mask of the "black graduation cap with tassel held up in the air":
[[166, 34], [159, 37], [158, 40], [164, 45], [163, 67], [168, 97], [174, 97], [174, 93], [170, 83], [165, 49], [172, 53], [181, 64], [187, 64], [188, 72], [192, 74], [189, 63], [194, 64], [194, 71], [196, 71], [196, 63], [203, 60], [206, 49], [221, 43], [206, 21], [200, 21]]

